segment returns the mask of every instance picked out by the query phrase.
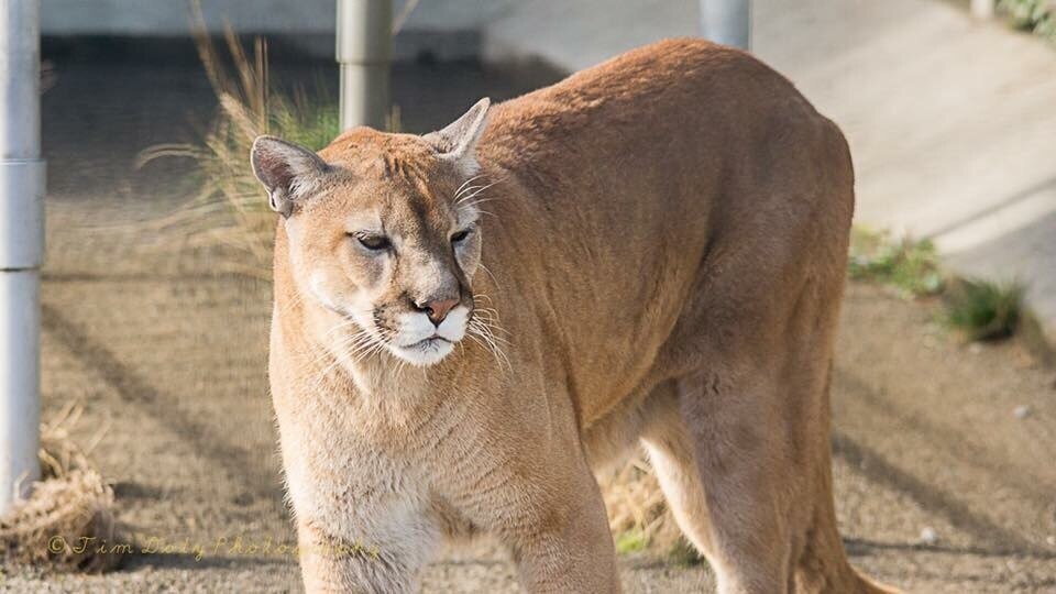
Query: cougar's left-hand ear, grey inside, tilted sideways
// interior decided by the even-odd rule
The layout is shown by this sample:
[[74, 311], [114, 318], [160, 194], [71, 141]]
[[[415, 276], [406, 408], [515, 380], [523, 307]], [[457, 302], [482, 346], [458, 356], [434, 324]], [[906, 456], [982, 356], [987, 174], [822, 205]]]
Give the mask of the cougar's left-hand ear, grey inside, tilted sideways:
[[304, 146], [275, 136], [257, 136], [250, 152], [253, 174], [267, 190], [272, 210], [289, 218], [310, 197], [329, 170], [327, 162]]

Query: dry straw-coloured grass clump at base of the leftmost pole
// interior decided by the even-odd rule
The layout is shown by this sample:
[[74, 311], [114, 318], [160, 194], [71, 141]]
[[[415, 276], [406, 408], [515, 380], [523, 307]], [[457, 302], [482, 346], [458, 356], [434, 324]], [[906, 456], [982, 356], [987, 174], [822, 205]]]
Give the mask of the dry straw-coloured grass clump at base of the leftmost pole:
[[114, 542], [114, 505], [113, 490], [88, 460], [90, 448], [82, 450], [69, 438], [80, 413], [67, 405], [41, 428], [43, 479], [29, 499], [0, 518], [0, 554], [7, 563], [100, 573], [121, 560], [120, 551], [81, 546]]

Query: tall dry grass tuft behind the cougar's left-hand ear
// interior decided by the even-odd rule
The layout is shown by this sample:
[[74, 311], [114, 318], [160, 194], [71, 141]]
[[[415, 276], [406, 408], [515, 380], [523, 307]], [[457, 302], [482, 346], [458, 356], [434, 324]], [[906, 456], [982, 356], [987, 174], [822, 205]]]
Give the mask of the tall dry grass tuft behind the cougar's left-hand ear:
[[234, 257], [226, 268], [266, 277], [271, 273], [275, 217], [249, 165], [261, 134], [275, 134], [318, 150], [339, 131], [337, 108], [299, 90], [287, 97], [271, 87], [267, 44], [257, 37], [246, 53], [230, 25], [221, 51], [206, 28], [200, 4], [191, 2], [195, 46], [220, 111], [201, 144], [161, 144], [140, 154], [139, 165], [163, 157], [191, 158], [200, 188], [187, 208], [155, 224], [178, 233], [189, 246], [224, 246]]

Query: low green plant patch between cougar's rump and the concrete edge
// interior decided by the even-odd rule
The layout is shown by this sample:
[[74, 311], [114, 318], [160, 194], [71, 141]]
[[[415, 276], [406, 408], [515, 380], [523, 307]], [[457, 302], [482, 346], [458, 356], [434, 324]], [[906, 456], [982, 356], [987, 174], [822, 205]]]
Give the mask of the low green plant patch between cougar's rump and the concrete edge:
[[937, 295], [943, 274], [930, 241], [892, 241], [887, 233], [856, 228], [851, 233], [848, 274], [856, 280], [893, 286], [905, 297]]

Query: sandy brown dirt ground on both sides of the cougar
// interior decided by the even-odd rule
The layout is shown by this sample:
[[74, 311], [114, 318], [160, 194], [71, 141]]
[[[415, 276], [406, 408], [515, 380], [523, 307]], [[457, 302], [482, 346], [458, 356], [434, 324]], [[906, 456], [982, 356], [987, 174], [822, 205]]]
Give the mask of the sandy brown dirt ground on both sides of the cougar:
[[[183, 249], [138, 222], [175, 208], [174, 180], [187, 173], [130, 169], [136, 151], [173, 140], [148, 99], [178, 119], [183, 102], [206, 101], [208, 88], [111, 68], [108, 77], [131, 73], [129, 85], [147, 97], [99, 111], [122, 105], [128, 89], [80, 96], [100, 73], [78, 68], [59, 63], [45, 97], [44, 418], [70, 400], [84, 405], [75, 436], [101, 436], [92, 457], [113, 482], [120, 539], [138, 552], [107, 575], [20, 571], [0, 588], [299, 591], [295, 560], [278, 550], [294, 535], [265, 377], [270, 286], [218, 273], [221, 254]], [[833, 447], [851, 560], [910, 592], [1056, 592], [1056, 372], [1015, 342], [966, 345], [936, 319], [935, 304], [849, 287]], [[706, 566], [644, 556], [620, 566], [628, 592], [713, 587]], [[510, 563], [484, 543], [448, 551], [424, 590], [517, 585]]]

